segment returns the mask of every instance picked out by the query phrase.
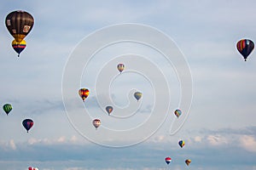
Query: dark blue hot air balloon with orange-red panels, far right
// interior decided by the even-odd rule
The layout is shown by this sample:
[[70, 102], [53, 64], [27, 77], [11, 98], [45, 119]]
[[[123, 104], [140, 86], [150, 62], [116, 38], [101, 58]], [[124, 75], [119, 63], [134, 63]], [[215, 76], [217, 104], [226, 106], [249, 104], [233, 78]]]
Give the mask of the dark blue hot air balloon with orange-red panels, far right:
[[254, 43], [252, 40], [249, 39], [241, 39], [239, 42], [236, 43], [236, 48], [246, 61], [248, 55], [251, 54], [253, 51]]

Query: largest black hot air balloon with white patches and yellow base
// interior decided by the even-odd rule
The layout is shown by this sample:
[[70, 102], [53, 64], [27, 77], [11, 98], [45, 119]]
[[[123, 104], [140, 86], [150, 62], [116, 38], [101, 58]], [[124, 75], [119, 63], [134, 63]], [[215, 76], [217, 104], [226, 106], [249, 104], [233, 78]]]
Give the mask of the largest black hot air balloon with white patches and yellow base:
[[5, 26], [16, 42], [21, 42], [32, 30], [34, 19], [26, 11], [13, 11], [6, 16]]

